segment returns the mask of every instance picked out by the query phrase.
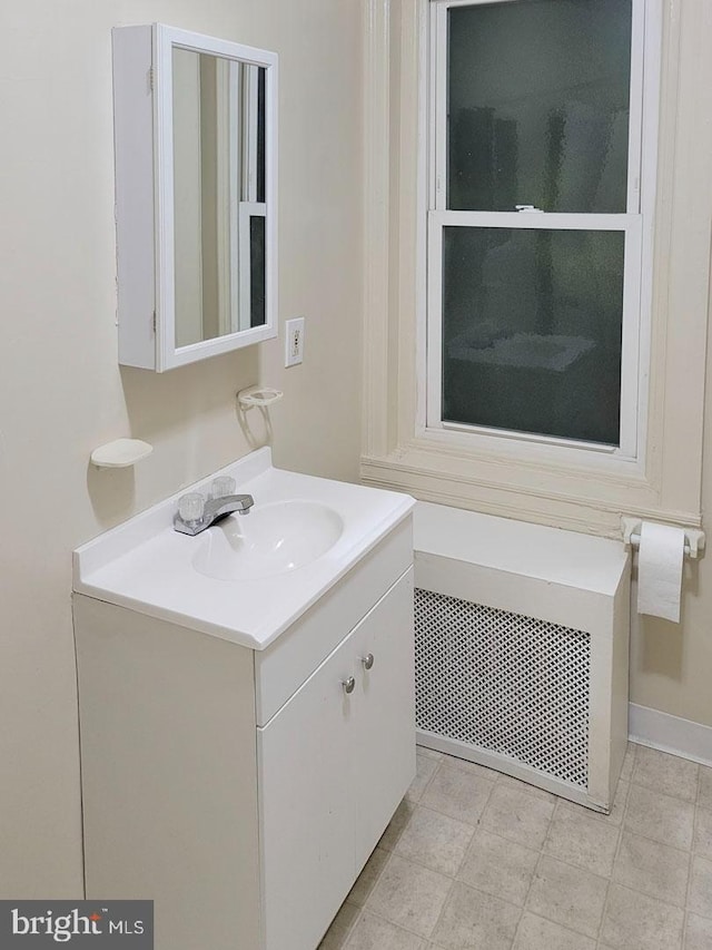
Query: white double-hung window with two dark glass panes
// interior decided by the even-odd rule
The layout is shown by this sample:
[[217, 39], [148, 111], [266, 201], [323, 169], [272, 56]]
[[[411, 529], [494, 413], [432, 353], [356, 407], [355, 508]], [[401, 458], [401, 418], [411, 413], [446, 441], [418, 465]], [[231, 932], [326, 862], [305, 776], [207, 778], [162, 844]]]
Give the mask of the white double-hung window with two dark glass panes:
[[643, 0], [432, 0], [428, 430], [634, 459]]

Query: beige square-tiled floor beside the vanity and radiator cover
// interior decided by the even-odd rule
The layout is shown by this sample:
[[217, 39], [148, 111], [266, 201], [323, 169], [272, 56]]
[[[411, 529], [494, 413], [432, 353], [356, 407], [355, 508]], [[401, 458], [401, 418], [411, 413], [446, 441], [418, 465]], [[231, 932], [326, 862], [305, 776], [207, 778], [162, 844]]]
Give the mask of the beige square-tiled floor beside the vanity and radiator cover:
[[421, 748], [342, 948], [712, 950], [712, 768], [631, 744], [606, 816]]

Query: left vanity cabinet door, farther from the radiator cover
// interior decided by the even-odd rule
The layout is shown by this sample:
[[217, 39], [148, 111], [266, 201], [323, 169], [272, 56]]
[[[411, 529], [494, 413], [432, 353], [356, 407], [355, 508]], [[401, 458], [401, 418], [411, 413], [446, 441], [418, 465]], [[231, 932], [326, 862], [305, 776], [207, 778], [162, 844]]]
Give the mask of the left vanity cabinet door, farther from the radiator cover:
[[265, 950], [314, 950], [355, 878], [352, 639], [257, 729]]

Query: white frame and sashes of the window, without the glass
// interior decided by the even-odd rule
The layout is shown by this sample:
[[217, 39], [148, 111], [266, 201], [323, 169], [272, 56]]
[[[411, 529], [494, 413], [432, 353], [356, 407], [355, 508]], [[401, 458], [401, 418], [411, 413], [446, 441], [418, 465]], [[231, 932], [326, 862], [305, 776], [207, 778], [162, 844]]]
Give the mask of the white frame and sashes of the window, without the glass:
[[[530, 459], [552, 450], [562, 463], [581, 463], [584, 457], [604, 457], [606, 467], [627, 468], [640, 460], [645, 447], [644, 413], [647, 396], [646, 359], [650, 347], [650, 298], [652, 284], [652, 217], [654, 207], [655, 161], [643, 155], [650, 150], [656, 133], [657, 84], [644, 82], [650, 59], [655, 59], [646, 29], [644, 0], [632, 0], [631, 99], [629, 117], [629, 180], [626, 210], [621, 214], [558, 214], [543, 212], [455, 212], [446, 208], [447, 180], [447, 17], [454, 7], [512, 0], [431, 0], [428, 39], [428, 172], [427, 172], [427, 295], [421, 327], [421, 372], [426, 380], [425, 399], [419, 401], [418, 434], [442, 439], [452, 447], [482, 447], [487, 451], [507, 445], [507, 453], [522, 447]], [[646, 42], [647, 40], [647, 42]], [[646, 63], [646, 58], [649, 62]], [[620, 444], [606, 445], [538, 435], [526, 432], [469, 425], [442, 420], [442, 235], [445, 226], [504, 227], [530, 229], [619, 231], [625, 234], [623, 323], [621, 354]], [[582, 456], [583, 453], [583, 456]], [[597, 463], [596, 463], [596, 467]]]

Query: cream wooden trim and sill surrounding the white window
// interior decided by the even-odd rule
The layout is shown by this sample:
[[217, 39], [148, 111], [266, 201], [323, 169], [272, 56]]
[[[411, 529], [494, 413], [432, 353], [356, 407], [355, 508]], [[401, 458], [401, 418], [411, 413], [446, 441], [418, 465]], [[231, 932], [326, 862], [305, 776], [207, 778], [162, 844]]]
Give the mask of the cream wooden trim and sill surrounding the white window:
[[[423, 334], [429, 0], [365, 0], [364, 375], [360, 476], [416, 498], [620, 537], [621, 513], [700, 527], [710, 301], [712, 127], [709, 23], [702, 8], [649, 0], [643, 174], [649, 194], [642, 287], [641, 452], [635, 461], [491, 437], [426, 432], [416, 372]], [[657, 139], [660, 133], [660, 149]], [[652, 210], [655, 209], [653, 219]], [[654, 243], [654, 254], [653, 254]], [[650, 384], [649, 384], [650, 380]], [[534, 451], [532, 451], [534, 448]], [[584, 456], [584, 462], [581, 457]]]

